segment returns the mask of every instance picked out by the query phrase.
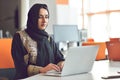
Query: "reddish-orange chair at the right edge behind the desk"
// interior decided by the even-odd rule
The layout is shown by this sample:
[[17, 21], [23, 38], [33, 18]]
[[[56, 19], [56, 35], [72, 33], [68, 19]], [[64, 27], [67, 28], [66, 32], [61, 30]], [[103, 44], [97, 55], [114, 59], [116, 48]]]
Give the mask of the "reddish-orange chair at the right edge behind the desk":
[[108, 50], [108, 59], [112, 61], [120, 61], [120, 42], [108, 41], [106, 42]]

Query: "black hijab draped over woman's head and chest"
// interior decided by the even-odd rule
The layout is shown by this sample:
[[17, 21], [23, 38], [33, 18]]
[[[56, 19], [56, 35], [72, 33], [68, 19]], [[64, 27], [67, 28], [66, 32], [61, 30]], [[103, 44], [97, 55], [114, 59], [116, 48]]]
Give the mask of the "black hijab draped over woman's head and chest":
[[39, 11], [41, 8], [49, 10], [46, 4], [35, 4], [28, 12], [27, 29], [28, 35], [37, 42], [37, 60], [36, 65], [46, 66], [49, 63], [54, 63], [53, 50], [48, 41], [48, 33], [45, 30], [38, 28]]

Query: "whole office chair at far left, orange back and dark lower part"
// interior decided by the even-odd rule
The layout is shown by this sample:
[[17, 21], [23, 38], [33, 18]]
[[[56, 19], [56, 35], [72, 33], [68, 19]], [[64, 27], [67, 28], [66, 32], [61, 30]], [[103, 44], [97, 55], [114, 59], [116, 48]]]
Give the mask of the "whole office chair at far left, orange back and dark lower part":
[[1, 79], [14, 80], [15, 68], [11, 56], [12, 39], [0, 39], [0, 77]]

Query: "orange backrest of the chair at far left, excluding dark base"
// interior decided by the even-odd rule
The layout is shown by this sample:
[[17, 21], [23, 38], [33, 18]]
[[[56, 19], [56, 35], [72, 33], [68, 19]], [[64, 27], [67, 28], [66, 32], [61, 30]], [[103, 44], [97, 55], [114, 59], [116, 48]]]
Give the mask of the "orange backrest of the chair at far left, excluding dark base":
[[11, 56], [12, 39], [0, 39], [0, 68], [14, 68], [14, 62]]

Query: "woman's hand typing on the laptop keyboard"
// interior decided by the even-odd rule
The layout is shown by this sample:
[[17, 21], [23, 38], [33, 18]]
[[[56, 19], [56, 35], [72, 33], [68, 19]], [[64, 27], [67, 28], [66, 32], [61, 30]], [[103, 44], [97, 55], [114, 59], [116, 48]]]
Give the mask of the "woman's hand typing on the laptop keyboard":
[[50, 71], [50, 70], [56, 70], [59, 72], [61, 69], [58, 65], [50, 63], [47, 66], [41, 68], [40, 73], [46, 73], [47, 71]]

